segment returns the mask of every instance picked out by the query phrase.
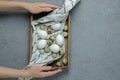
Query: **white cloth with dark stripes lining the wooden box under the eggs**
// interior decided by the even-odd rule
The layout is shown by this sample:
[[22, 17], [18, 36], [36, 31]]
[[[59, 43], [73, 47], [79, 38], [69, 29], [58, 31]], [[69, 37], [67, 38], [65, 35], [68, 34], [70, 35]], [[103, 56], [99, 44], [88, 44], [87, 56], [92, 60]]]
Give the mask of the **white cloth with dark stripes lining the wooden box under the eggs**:
[[[57, 56], [55, 59], [52, 58], [51, 53], [47, 54], [41, 54], [40, 51], [37, 49], [37, 41], [38, 41], [38, 26], [41, 23], [44, 23], [45, 26], [49, 27], [51, 25], [54, 25], [56, 23], [61, 23], [62, 28], [59, 31], [56, 31], [52, 35], [58, 35], [60, 34], [63, 30], [63, 27], [65, 25], [65, 22], [68, 18], [69, 11], [79, 2], [80, 0], [65, 0], [63, 6], [61, 9], [56, 9], [47, 16], [44, 16], [38, 20], [32, 21], [32, 26], [33, 26], [33, 52], [32, 52], [32, 58], [29, 62], [28, 66], [45, 66], [54, 60], [59, 59], [61, 56]], [[50, 36], [50, 35], [49, 35]], [[65, 45], [63, 45], [63, 50], [65, 49]], [[30, 80], [26, 78], [19, 78], [19, 80]]]

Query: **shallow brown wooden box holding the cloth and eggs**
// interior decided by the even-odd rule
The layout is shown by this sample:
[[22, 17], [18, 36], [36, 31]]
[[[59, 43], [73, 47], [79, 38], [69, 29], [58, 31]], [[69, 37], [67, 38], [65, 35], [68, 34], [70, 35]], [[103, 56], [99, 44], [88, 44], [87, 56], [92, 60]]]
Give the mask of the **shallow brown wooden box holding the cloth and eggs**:
[[[34, 14], [34, 15], [32, 14], [30, 16], [30, 24], [33, 20], [37, 20], [40, 17], [43, 17], [47, 14], [48, 13], [40, 13], [40, 14]], [[70, 67], [70, 15], [68, 16], [66, 24], [68, 26], [68, 37], [65, 38], [65, 55], [62, 58], [67, 58], [68, 63], [67, 63], [67, 65], [62, 65], [59, 68], [68, 69]], [[32, 33], [33, 33], [33, 28], [32, 28], [32, 25], [30, 25], [30, 58], [32, 56]], [[56, 65], [55, 65], [56, 62], [61, 61], [61, 59], [54, 61], [53, 63], [49, 64], [48, 66], [56, 67]]]

